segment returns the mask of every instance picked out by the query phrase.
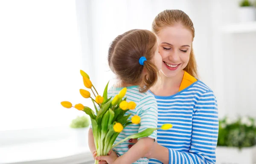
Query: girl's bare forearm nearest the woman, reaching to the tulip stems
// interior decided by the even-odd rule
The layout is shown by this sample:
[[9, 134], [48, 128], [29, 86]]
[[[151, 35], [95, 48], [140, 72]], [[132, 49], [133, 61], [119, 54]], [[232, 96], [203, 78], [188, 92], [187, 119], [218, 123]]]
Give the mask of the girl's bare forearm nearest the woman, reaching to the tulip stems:
[[98, 156], [96, 160], [104, 160], [107, 161], [108, 164], [132, 164], [138, 159], [145, 157], [145, 154], [151, 149], [153, 144], [154, 139], [152, 138], [140, 138], [124, 155], [116, 158], [116, 156], [111, 153], [111, 155]]

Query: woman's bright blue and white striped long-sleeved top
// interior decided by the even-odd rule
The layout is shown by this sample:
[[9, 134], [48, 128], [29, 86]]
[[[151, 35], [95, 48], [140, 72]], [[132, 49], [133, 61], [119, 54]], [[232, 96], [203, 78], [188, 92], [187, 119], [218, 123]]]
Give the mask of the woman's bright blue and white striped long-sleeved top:
[[[215, 164], [218, 109], [212, 90], [201, 81], [172, 96], [157, 96], [158, 144], [169, 149], [169, 164]], [[162, 164], [150, 159], [149, 164]]]

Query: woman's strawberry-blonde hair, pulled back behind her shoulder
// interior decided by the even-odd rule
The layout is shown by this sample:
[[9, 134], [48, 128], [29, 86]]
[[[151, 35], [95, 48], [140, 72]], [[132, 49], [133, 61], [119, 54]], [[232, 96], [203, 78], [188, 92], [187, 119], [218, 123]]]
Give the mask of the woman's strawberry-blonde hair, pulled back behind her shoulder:
[[[166, 26], [173, 26], [177, 23], [181, 23], [184, 27], [189, 29], [192, 34], [192, 39], [194, 40], [195, 29], [194, 29], [193, 22], [189, 18], [189, 16], [181, 10], [165, 10], [163, 12], [160, 12], [155, 17], [152, 23], [152, 30], [156, 35], [158, 35], [161, 29], [165, 28]], [[189, 63], [184, 68], [184, 71], [188, 72], [193, 77], [198, 78], [195, 54], [194, 54], [192, 45], [191, 45], [191, 52], [189, 55]]]

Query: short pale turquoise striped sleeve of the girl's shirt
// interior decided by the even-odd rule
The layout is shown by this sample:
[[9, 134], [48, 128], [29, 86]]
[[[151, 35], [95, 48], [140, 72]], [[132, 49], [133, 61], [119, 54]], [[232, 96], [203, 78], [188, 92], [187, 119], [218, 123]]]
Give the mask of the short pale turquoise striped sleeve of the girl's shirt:
[[[137, 108], [137, 115], [140, 116], [139, 132], [142, 132], [147, 128], [157, 128], [157, 101], [154, 96], [150, 94], [147, 95], [147, 97], [142, 98]], [[155, 130], [148, 137], [157, 141], [157, 131]]]

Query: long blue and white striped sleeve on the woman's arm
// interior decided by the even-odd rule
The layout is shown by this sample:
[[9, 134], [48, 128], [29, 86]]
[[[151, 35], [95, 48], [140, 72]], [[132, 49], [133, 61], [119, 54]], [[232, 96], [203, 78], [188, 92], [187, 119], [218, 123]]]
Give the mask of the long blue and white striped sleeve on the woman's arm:
[[169, 148], [169, 164], [215, 164], [217, 140], [217, 101], [213, 92], [208, 90], [194, 106], [189, 152]]

